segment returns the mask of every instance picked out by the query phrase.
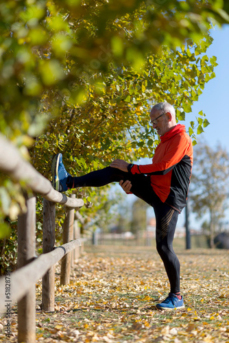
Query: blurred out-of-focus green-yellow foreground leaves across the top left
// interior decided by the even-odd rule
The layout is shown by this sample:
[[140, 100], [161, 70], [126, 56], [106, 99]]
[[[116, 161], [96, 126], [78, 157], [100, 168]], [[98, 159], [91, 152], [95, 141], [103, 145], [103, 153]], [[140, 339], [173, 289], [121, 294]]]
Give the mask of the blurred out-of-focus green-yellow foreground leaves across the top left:
[[227, 10], [219, 0], [2, 1], [1, 131], [10, 139], [36, 135], [49, 119], [40, 111], [47, 93], [54, 114], [63, 95], [82, 104], [88, 83], [100, 88], [93, 75], [110, 73], [110, 60], [143, 72], [147, 54], [186, 38], [200, 42], [210, 19], [228, 22]]

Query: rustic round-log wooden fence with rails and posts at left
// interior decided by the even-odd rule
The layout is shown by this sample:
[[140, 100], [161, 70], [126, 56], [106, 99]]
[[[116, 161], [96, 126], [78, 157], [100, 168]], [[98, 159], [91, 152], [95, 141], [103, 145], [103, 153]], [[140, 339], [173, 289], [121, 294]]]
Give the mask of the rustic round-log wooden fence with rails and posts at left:
[[[36, 341], [36, 282], [43, 278], [42, 309], [54, 311], [55, 264], [62, 259], [60, 283], [70, 281], [71, 255], [81, 245], [80, 239], [73, 239], [74, 211], [84, 202], [67, 197], [53, 189], [51, 182], [25, 161], [19, 151], [0, 134], [0, 170], [10, 178], [25, 182], [34, 193], [25, 196], [27, 212], [18, 218], [18, 259], [16, 272], [0, 278], [0, 316], [8, 314], [12, 305], [18, 302], [18, 341]], [[43, 195], [43, 255], [36, 257], [36, 194]], [[55, 248], [56, 203], [63, 204], [65, 219], [63, 245]], [[76, 228], [75, 228], [76, 229]], [[75, 233], [75, 236], [79, 236]], [[75, 238], [75, 237], [74, 237]], [[9, 316], [5, 315], [5, 318]]]

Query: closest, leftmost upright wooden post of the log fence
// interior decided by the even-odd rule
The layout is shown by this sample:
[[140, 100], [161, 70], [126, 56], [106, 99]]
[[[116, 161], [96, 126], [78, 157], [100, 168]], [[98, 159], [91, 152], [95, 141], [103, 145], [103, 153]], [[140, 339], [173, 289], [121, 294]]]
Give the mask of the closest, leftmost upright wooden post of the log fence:
[[[26, 198], [27, 213], [19, 215], [18, 220], [18, 260], [21, 268], [35, 258], [36, 198]], [[14, 285], [16, 287], [16, 285]], [[18, 341], [36, 341], [36, 289], [35, 285], [18, 302]]]

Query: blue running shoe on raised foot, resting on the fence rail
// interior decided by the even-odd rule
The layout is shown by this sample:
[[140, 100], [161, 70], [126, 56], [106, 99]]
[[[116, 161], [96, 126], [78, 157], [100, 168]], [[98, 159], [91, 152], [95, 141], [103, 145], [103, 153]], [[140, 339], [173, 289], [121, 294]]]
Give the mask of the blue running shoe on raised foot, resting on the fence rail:
[[53, 178], [52, 185], [56, 191], [64, 192], [69, 189], [69, 187], [67, 187], [67, 177], [70, 176], [70, 174], [64, 168], [64, 164], [62, 163], [62, 154], [57, 154], [53, 158], [51, 174]]

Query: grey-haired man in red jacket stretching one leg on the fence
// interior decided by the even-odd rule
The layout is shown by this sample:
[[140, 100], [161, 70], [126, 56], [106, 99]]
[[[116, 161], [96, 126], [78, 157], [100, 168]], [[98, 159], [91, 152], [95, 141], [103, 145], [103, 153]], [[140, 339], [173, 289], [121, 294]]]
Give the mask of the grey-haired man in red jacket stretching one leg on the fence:
[[167, 102], [153, 106], [153, 128], [160, 136], [152, 163], [136, 165], [115, 160], [109, 167], [84, 176], [71, 176], [62, 163], [62, 154], [53, 158], [53, 187], [57, 191], [77, 187], [101, 187], [119, 182], [126, 193], [133, 193], [154, 208], [156, 248], [170, 283], [169, 296], [156, 304], [158, 309], [184, 308], [180, 294], [180, 262], [173, 250], [178, 215], [186, 205], [193, 165], [193, 146], [185, 126], [176, 123], [176, 113]]

